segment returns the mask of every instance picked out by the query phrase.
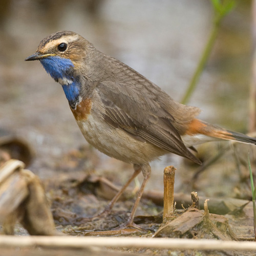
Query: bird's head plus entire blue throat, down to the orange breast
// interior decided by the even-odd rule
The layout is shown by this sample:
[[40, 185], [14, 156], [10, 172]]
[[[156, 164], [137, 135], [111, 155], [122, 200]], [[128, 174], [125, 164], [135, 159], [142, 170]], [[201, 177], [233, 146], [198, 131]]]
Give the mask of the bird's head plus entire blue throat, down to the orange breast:
[[84, 79], [88, 79], [87, 67], [92, 62], [88, 56], [94, 51], [93, 45], [82, 36], [59, 31], [42, 39], [36, 52], [25, 60], [39, 60], [47, 73], [61, 84], [70, 106], [75, 108]]

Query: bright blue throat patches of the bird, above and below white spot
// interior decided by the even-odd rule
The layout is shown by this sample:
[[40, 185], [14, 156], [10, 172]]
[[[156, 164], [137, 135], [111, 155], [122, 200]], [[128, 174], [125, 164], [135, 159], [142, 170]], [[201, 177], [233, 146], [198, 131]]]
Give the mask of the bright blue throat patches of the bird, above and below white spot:
[[74, 104], [78, 100], [80, 84], [72, 76], [72, 68], [74, 64], [70, 59], [61, 58], [58, 56], [49, 56], [40, 59], [42, 66], [51, 77], [58, 81], [58, 79], [67, 79], [73, 81], [71, 84], [62, 84], [62, 88], [70, 104]]

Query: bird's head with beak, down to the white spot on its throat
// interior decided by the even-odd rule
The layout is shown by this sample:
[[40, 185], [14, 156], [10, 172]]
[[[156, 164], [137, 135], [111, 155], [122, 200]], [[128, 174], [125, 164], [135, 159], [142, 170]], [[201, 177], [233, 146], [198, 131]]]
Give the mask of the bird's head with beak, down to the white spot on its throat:
[[70, 84], [86, 58], [90, 42], [72, 31], [59, 31], [41, 40], [36, 53], [25, 60], [40, 60], [47, 73], [62, 85]]

